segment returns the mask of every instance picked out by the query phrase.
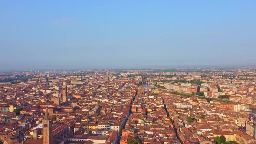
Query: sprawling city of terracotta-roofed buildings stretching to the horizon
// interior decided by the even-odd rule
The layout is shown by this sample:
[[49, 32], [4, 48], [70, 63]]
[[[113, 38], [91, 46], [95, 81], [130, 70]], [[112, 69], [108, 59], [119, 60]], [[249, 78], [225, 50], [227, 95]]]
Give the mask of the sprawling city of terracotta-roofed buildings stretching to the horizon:
[[0, 73], [3, 144], [254, 144], [256, 68]]

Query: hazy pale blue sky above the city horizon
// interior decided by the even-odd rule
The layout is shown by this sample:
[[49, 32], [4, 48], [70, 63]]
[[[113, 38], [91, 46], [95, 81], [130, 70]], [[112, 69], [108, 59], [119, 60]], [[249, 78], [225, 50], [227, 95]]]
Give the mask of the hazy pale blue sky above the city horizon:
[[1, 0], [0, 70], [256, 65], [256, 0]]

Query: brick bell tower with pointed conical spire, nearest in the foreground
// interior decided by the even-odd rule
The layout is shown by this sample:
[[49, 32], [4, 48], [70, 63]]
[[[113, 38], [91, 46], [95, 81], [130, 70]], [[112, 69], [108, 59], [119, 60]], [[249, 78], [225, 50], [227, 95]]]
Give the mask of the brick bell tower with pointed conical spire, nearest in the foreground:
[[42, 120], [43, 124], [43, 144], [53, 144], [52, 136], [52, 121], [49, 117], [48, 108], [46, 108], [46, 113]]

